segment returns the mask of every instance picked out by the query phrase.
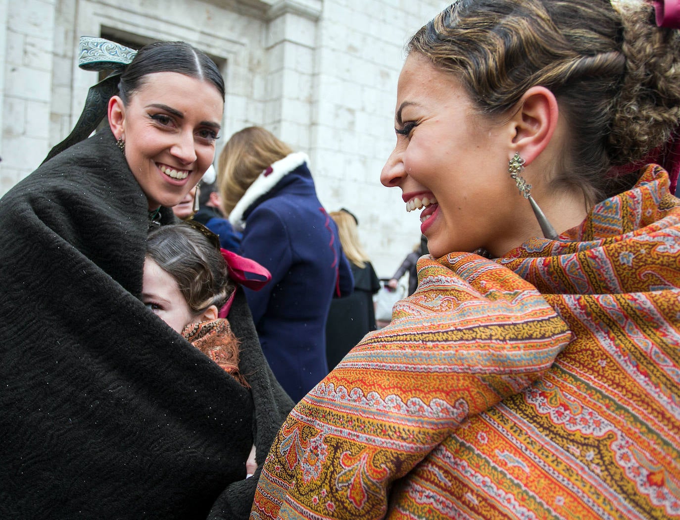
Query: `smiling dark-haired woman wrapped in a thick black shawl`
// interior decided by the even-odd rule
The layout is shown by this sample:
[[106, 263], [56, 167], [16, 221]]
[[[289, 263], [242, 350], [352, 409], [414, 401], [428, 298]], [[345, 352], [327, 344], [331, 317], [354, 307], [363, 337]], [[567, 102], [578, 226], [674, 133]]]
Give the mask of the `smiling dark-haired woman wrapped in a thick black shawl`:
[[139, 300], [148, 226], [213, 160], [224, 84], [178, 42], [121, 78], [110, 128], [0, 199], [0, 517], [247, 517], [250, 446], [261, 464], [292, 403], [243, 293], [228, 319], [249, 395]]

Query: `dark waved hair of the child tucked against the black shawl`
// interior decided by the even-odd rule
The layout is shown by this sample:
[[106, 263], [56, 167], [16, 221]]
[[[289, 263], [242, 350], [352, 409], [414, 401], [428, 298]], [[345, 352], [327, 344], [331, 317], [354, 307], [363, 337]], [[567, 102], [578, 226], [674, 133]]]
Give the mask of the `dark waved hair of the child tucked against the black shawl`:
[[219, 248], [188, 224], [152, 229], [146, 256], [177, 281], [194, 314], [211, 305], [222, 308], [235, 289]]

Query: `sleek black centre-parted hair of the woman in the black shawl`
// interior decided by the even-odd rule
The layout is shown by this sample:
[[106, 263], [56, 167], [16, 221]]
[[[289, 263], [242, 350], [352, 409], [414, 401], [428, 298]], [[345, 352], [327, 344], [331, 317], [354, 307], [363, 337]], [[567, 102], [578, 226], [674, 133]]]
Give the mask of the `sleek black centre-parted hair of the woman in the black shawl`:
[[186, 42], [154, 42], [143, 46], [120, 76], [118, 92], [127, 105], [141, 88], [144, 78], [156, 72], [177, 72], [215, 85], [224, 101], [224, 79], [220, 69], [205, 53]]

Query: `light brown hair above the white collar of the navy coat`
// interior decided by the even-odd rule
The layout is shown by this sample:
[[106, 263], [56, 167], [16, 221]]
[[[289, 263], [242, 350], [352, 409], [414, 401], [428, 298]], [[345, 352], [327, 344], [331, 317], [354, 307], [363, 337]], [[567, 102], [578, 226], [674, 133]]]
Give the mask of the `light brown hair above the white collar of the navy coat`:
[[224, 214], [231, 213], [243, 193], [265, 169], [292, 151], [262, 127], [247, 127], [229, 137], [220, 152], [217, 172]]

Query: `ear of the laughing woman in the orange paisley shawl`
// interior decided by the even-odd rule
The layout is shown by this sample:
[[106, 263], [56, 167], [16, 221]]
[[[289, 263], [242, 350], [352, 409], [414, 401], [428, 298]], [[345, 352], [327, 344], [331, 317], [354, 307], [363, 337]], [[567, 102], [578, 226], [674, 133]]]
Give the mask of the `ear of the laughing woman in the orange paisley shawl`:
[[518, 102], [511, 118], [513, 146], [530, 164], [548, 146], [558, 125], [560, 110], [555, 95], [545, 86], [532, 86]]

